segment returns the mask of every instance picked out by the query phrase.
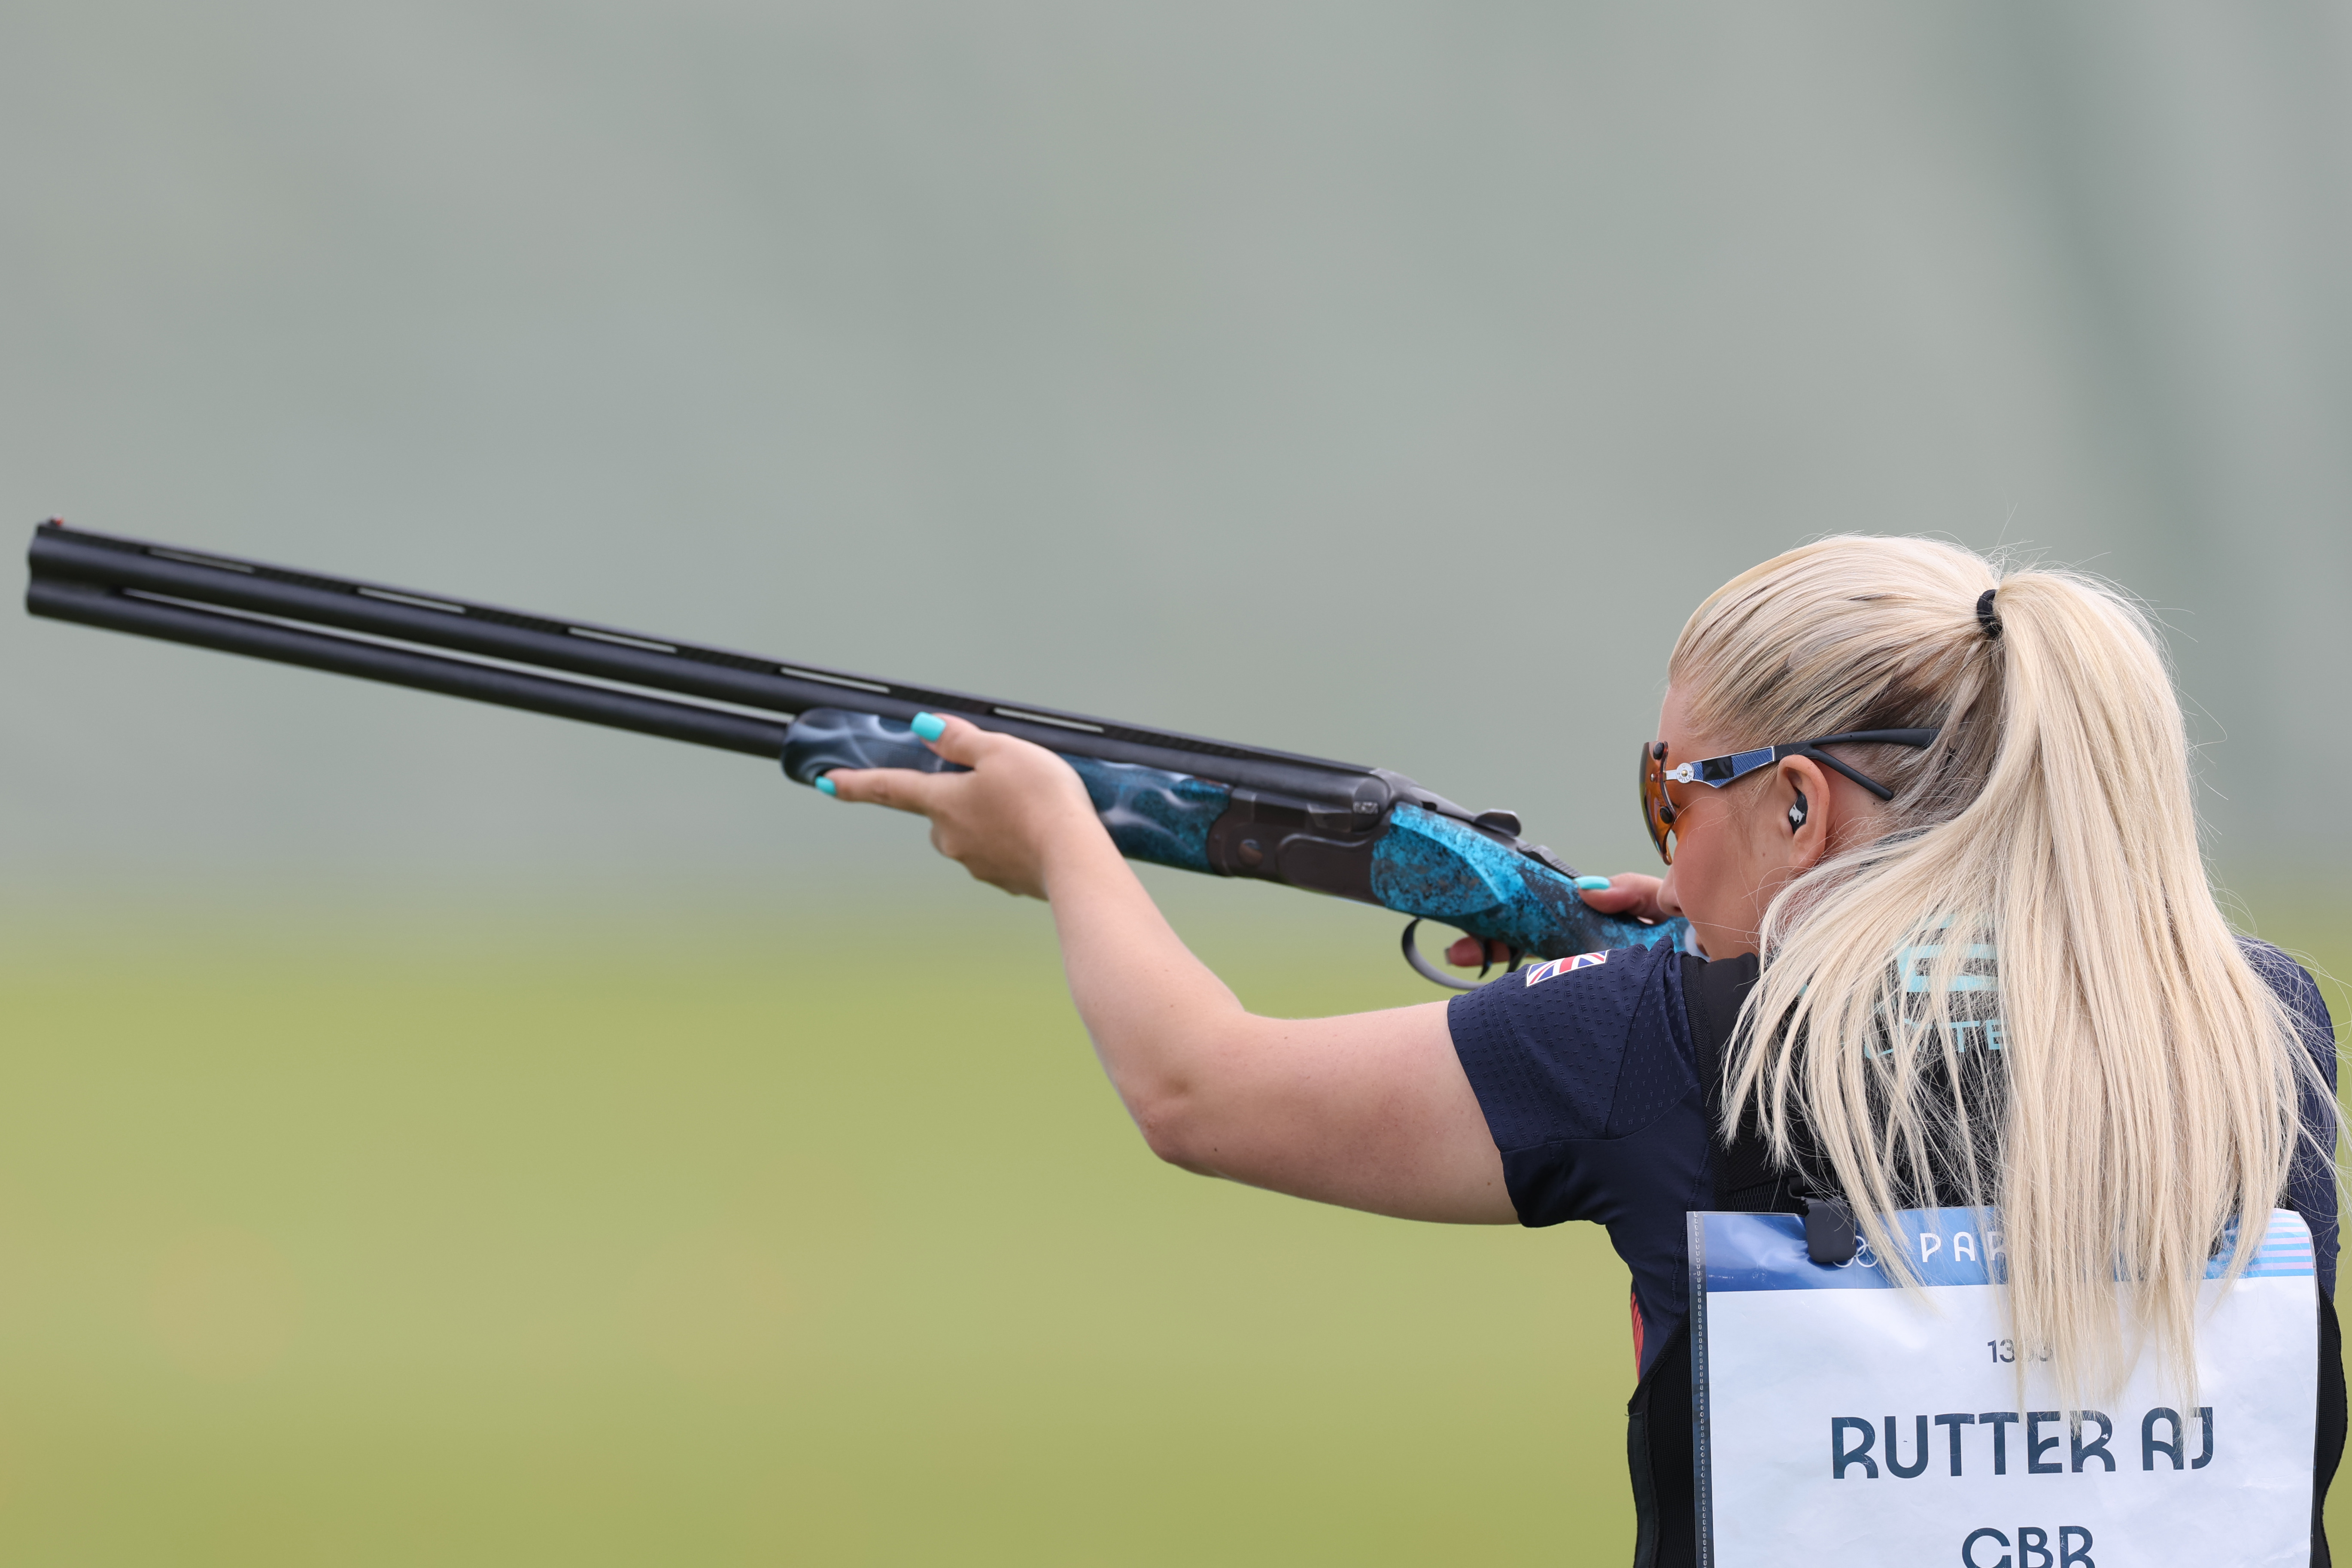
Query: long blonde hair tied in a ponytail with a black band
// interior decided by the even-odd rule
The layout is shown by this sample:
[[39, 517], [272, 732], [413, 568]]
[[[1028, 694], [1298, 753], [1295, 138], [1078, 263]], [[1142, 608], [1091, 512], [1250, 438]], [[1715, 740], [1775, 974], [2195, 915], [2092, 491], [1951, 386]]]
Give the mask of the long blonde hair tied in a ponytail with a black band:
[[2232, 1279], [2260, 1244], [2298, 1088], [2336, 1098], [2213, 903], [2147, 616], [2067, 571], [1839, 536], [1710, 595], [1670, 682], [1726, 745], [1940, 729], [1842, 748], [1893, 788], [1889, 832], [1771, 903], [1726, 1121], [1835, 1182], [1903, 1284], [1886, 1213], [1997, 1204], [2013, 1333], [2070, 1406], [2147, 1342], [2194, 1387], [2206, 1262], [2232, 1225]]

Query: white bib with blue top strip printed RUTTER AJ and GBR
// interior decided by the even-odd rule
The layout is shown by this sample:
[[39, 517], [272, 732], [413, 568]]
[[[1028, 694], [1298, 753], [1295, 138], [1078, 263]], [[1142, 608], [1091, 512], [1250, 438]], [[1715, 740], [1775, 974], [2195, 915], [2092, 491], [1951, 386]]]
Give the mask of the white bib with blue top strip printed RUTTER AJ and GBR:
[[1867, 1246], [1813, 1262], [1797, 1215], [1691, 1215], [1700, 1563], [2310, 1563], [2319, 1281], [2300, 1218], [2272, 1213], [2253, 1267], [2204, 1286], [2197, 1408], [2147, 1354], [2079, 1420], [2030, 1354], [2018, 1401], [1999, 1232], [1973, 1208], [1905, 1211], [1893, 1232], [1919, 1295]]

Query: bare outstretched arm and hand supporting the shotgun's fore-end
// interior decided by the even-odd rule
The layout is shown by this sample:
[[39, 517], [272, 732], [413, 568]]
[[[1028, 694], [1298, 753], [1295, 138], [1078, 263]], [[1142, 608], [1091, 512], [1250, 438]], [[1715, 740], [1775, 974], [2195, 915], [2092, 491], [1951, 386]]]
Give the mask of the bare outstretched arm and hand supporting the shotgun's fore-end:
[[1409, 1220], [1517, 1218], [1442, 1001], [1258, 1018], [1169, 929], [1065, 762], [962, 719], [934, 750], [971, 771], [830, 780], [931, 818], [943, 856], [1054, 905], [1077, 1013], [1155, 1154]]

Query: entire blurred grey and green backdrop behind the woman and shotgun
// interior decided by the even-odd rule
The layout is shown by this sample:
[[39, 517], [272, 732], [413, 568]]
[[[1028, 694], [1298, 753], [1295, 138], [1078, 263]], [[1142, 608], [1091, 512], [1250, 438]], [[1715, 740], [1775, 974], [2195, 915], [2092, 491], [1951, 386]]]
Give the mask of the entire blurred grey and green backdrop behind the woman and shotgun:
[[[0, 517], [1597, 870], [1708, 588], [2016, 545], [2161, 614], [2216, 877], [2352, 971], [2347, 82], [2317, 0], [12, 0]], [[1265, 1011], [1428, 994], [1152, 886]], [[1630, 1380], [1597, 1232], [1150, 1161], [906, 820], [0, 616], [9, 1561], [1609, 1563]]]

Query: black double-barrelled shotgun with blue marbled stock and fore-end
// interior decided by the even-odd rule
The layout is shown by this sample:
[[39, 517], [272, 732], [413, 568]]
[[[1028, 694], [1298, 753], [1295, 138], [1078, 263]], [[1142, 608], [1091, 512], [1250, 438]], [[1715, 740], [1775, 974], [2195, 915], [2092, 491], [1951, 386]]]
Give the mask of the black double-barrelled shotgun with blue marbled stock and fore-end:
[[[1576, 872], [1519, 837], [1510, 811], [1472, 813], [1388, 769], [1143, 729], [967, 691], [908, 686], [437, 592], [85, 534], [33, 531], [26, 609], [165, 642], [501, 703], [830, 769], [953, 764], [910, 719], [953, 712], [1035, 741], [1077, 769], [1131, 860], [1258, 877], [1409, 914], [1404, 957], [1468, 987], [1414, 945], [1423, 919], [1557, 959], [1684, 940], [1684, 922], [1599, 914]], [[1484, 973], [1484, 971], [1479, 971]]]

